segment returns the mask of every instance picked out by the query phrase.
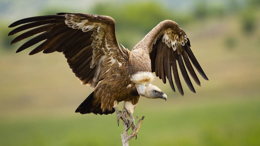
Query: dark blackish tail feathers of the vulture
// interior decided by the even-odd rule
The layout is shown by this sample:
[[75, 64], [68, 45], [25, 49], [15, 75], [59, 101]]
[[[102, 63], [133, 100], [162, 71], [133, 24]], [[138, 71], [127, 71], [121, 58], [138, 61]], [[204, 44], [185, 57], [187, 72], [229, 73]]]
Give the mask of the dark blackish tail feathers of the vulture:
[[105, 110], [103, 111], [101, 109], [101, 102], [97, 105], [92, 104], [94, 92], [92, 92], [81, 104], [80, 106], [76, 109], [76, 113], [81, 113], [81, 114], [87, 114], [87, 113], [94, 113], [94, 114], [112, 114], [115, 112], [115, 109], [113, 108], [111, 111]]

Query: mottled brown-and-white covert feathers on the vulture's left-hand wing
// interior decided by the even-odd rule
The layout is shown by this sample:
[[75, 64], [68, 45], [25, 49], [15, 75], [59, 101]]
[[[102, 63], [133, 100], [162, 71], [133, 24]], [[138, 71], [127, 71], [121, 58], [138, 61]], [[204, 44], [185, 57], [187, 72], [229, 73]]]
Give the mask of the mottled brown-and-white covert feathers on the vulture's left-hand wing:
[[[92, 17], [95, 18], [98, 16], [93, 15]], [[109, 35], [107, 32], [111, 31], [112, 28], [107, 29], [109, 26], [106, 26], [104, 23], [91, 22], [76, 14], [66, 14], [65, 18], [65, 24], [67, 24], [68, 27], [80, 29], [86, 33], [93, 31], [91, 35], [93, 37], [91, 44], [93, 48], [93, 55], [90, 62], [90, 68], [96, 67], [96, 70], [90, 87], [94, 89], [99, 82], [99, 79], [101, 80], [104, 78], [104, 75], [106, 75], [109, 71], [110, 67], [108, 66], [114, 63], [122, 63], [122, 59], [120, 57], [117, 58], [118, 60], [114, 59], [114, 56], [118, 55], [118, 45], [112, 46], [107, 43], [108, 41], [106, 37]], [[81, 83], [84, 84], [85, 82]]]

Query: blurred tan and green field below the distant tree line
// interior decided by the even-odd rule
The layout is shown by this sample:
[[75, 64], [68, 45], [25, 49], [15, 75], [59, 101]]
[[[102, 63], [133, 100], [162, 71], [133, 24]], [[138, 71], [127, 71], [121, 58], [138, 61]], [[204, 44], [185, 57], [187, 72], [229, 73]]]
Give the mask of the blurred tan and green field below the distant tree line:
[[[239, 24], [227, 16], [183, 28], [209, 81], [199, 77], [193, 94], [181, 80], [182, 97], [155, 80], [168, 99], [140, 98], [134, 116], [145, 119], [130, 145], [260, 145], [260, 30], [245, 35]], [[228, 37], [233, 49], [225, 46]], [[92, 90], [63, 55], [29, 52], [0, 55], [0, 145], [121, 145], [115, 114], [74, 113]]]

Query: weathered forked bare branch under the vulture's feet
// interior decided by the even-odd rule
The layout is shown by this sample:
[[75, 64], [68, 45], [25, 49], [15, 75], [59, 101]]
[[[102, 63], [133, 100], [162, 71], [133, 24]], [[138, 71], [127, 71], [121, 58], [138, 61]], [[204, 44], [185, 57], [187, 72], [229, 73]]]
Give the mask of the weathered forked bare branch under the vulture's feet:
[[[125, 114], [125, 116], [126, 116], [126, 113], [124, 113]], [[135, 116], [135, 118], [134, 119], [137, 119], [138, 118], [138, 116]], [[135, 129], [132, 129], [132, 133], [131, 133], [131, 135], [128, 135], [128, 131], [126, 131], [127, 130], [127, 124], [123, 121], [123, 126], [124, 126], [124, 132], [123, 132], [123, 134], [121, 134], [121, 139], [122, 139], [122, 144], [123, 144], [123, 146], [128, 146], [129, 144], [129, 141], [133, 138], [133, 137], [136, 137], [137, 138], [137, 132], [138, 132], [138, 130], [140, 129], [140, 126], [141, 126], [141, 124], [142, 124], [142, 122], [143, 122], [143, 120], [144, 120], [144, 118], [145, 118], [145, 116], [143, 116], [139, 121], [138, 121], [138, 123], [137, 123], [137, 125], [135, 126]], [[135, 139], [136, 139], [135, 138]]]

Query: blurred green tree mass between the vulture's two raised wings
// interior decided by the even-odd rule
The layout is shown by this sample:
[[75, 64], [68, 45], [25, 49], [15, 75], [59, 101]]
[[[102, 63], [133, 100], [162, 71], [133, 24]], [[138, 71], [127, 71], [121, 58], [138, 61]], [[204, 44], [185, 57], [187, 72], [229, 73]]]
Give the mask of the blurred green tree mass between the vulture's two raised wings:
[[[192, 18], [180, 11], [165, 8], [156, 2], [127, 2], [117, 5], [100, 3], [93, 8], [93, 14], [107, 15], [115, 19], [116, 35], [119, 43], [132, 49], [152, 28], [164, 20], [173, 20], [180, 26]], [[134, 36], [134, 37], [133, 37]]]

